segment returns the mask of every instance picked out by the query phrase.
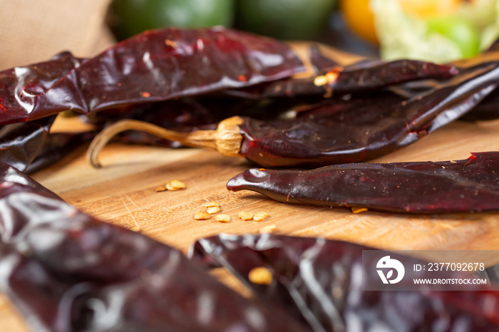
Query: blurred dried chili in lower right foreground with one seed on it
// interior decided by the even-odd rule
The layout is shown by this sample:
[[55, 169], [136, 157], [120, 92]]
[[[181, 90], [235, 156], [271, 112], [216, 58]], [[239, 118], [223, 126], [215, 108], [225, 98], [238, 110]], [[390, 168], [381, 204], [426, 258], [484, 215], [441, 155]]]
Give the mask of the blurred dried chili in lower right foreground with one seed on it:
[[[190, 257], [208, 267], [224, 266], [261, 299], [301, 316], [317, 332], [498, 330], [499, 292], [485, 286], [470, 286], [468, 291], [429, 291], [426, 286], [364, 291], [364, 278], [379, 278], [377, 261], [362, 264], [366, 249], [372, 248], [325, 239], [221, 234], [197, 241]], [[385, 252], [404, 265], [421, 264]], [[250, 281], [249, 272], [257, 267], [272, 271], [270, 284]]]

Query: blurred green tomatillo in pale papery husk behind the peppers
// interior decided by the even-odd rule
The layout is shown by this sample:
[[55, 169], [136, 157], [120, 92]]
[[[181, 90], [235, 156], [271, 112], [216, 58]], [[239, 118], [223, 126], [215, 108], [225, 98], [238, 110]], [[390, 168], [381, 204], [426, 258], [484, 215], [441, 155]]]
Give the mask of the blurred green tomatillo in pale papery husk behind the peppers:
[[444, 63], [476, 56], [499, 34], [498, 2], [371, 0], [381, 58]]

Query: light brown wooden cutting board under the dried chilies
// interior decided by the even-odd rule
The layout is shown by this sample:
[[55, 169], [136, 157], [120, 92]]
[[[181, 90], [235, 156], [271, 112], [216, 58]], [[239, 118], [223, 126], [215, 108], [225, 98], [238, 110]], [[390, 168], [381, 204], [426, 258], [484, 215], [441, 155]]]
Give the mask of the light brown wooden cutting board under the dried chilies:
[[[74, 128], [63, 119], [57, 128]], [[456, 122], [413, 145], [376, 162], [441, 161], [469, 157], [469, 152], [499, 150], [499, 120]], [[249, 167], [242, 158], [184, 148], [113, 144], [94, 169], [81, 147], [56, 165], [34, 175], [35, 180], [88, 214], [182, 251], [200, 237], [220, 232], [257, 233], [274, 224], [276, 233], [341, 239], [380, 249], [499, 249], [499, 213], [408, 215], [382, 212], [353, 214], [346, 208], [282, 204], [252, 192], [230, 192], [225, 184]], [[187, 186], [156, 192], [171, 180]], [[215, 201], [231, 222], [195, 220], [205, 202]], [[267, 212], [262, 222], [244, 222], [239, 212]], [[490, 257], [488, 264], [499, 263]], [[28, 331], [8, 300], [0, 298], [0, 331]]]

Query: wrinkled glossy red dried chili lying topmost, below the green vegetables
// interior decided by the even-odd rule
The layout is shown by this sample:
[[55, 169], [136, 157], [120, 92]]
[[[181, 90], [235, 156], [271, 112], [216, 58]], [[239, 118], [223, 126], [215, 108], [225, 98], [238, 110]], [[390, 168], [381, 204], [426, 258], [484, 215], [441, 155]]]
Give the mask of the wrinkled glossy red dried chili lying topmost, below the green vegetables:
[[222, 27], [146, 31], [71, 71], [66, 63], [55, 74], [45, 70], [53, 64], [0, 73], [0, 124], [241, 88], [304, 70], [286, 44]]

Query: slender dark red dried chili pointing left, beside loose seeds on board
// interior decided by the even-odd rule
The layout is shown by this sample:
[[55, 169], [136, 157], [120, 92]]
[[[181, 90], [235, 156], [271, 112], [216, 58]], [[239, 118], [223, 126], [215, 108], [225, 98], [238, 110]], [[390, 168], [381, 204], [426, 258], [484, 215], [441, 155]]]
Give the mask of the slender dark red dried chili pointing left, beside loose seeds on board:
[[331, 165], [314, 170], [251, 169], [227, 182], [279, 202], [366, 207], [389, 212], [499, 209], [499, 152], [467, 160]]

